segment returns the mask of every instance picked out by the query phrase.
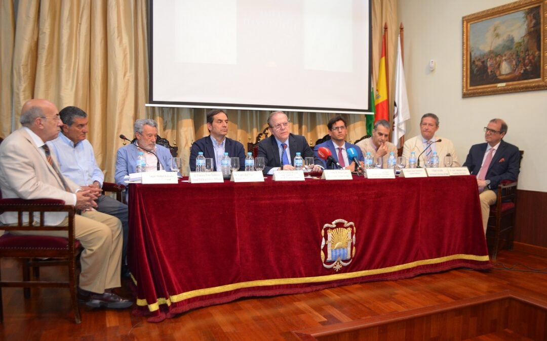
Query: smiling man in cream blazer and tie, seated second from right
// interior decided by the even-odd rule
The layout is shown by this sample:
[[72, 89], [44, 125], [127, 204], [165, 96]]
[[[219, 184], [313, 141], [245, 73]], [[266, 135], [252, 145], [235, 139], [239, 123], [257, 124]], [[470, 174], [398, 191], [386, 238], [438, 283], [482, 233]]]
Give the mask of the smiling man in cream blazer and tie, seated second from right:
[[[458, 155], [456, 155], [456, 149], [452, 141], [445, 137], [439, 137], [435, 135], [435, 132], [439, 129], [439, 117], [434, 113], [426, 113], [420, 120], [420, 135], [414, 136], [411, 139], [405, 141], [403, 146], [403, 156], [408, 160], [410, 153], [415, 152], [416, 158], [422, 152], [420, 156], [420, 166], [428, 166], [431, 157], [434, 152], [437, 152], [439, 156], [439, 167], [445, 166], [445, 157], [449, 155], [452, 157], [452, 167], [459, 167], [461, 163], [458, 161]], [[436, 142], [439, 141], [439, 142]]]

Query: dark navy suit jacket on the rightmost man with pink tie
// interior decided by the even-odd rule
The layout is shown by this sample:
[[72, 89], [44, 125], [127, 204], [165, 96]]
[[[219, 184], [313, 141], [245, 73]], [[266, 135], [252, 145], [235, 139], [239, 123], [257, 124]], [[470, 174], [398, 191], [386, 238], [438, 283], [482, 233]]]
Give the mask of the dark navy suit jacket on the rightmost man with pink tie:
[[[478, 145], [471, 146], [469, 149], [469, 154], [467, 154], [467, 158], [463, 165], [469, 168], [471, 174], [479, 174], [487, 145], [488, 143], [486, 142], [479, 143]], [[490, 186], [488, 187], [495, 190], [502, 180], [516, 181], [519, 177], [519, 172], [519, 148], [502, 140], [486, 171], [485, 180], [490, 180]]]

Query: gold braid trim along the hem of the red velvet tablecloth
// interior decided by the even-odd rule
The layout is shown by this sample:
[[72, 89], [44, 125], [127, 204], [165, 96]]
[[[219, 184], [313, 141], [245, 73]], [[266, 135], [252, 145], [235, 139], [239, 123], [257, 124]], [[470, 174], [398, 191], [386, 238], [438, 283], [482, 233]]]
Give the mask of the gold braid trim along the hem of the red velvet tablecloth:
[[[160, 308], [159, 307], [160, 304], [167, 304], [167, 306], [171, 306], [171, 302], [181, 302], [184, 300], [188, 300], [189, 298], [219, 294], [220, 292], [232, 291], [232, 290], [243, 289], [243, 288], [252, 288], [253, 286], [321, 283], [321, 282], [329, 282], [331, 280], [352, 279], [356, 277], [374, 276], [376, 274], [401, 271], [401, 270], [406, 270], [406, 269], [410, 269], [410, 268], [422, 266], [422, 265], [438, 264], [438, 263], [447, 262], [447, 261], [456, 260], [456, 259], [475, 260], [475, 261], [490, 260], [490, 258], [488, 258], [488, 255], [476, 256], [476, 255], [458, 254], [458, 255], [444, 256], [444, 257], [433, 258], [433, 259], [417, 260], [407, 264], [389, 266], [389, 267], [380, 268], [380, 269], [363, 270], [363, 271], [347, 272], [347, 273], [336, 273], [336, 274], [330, 274], [326, 276], [252, 280], [251, 282], [233, 283], [233, 284], [214, 286], [213, 288], [204, 288], [204, 289], [187, 291], [187, 292], [183, 292], [182, 294], [169, 296], [169, 298], [167, 299], [160, 297], [158, 298], [158, 301], [152, 304], [148, 304], [146, 299], [137, 298], [137, 306], [142, 306], [142, 307], [148, 306], [148, 309], [150, 310], [150, 312], [155, 312], [156, 310]], [[136, 280], [135, 279], [133, 280], [136, 284]]]

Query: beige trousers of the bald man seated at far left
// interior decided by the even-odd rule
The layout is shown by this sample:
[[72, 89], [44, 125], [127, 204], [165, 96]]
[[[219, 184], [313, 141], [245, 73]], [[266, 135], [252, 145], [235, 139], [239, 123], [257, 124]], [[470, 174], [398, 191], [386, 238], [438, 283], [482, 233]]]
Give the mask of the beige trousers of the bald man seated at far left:
[[[97, 211], [74, 216], [74, 232], [84, 251], [80, 256], [80, 288], [98, 294], [120, 286], [123, 234], [120, 219]], [[66, 226], [68, 217], [59, 224]], [[14, 231], [14, 234], [18, 232]], [[67, 231], [25, 231], [25, 235], [68, 237]]]

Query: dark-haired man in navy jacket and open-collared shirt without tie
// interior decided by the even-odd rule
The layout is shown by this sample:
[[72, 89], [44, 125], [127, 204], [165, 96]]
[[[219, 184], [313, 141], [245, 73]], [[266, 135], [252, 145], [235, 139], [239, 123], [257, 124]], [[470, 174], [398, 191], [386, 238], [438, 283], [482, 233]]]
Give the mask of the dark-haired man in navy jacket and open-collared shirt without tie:
[[245, 170], [245, 149], [240, 142], [226, 137], [228, 134], [228, 116], [220, 109], [213, 109], [207, 113], [207, 129], [209, 136], [195, 141], [190, 148], [190, 171], [196, 170], [196, 158], [198, 152], [203, 156], [213, 159], [214, 171], [220, 170], [220, 162], [224, 153], [231, 158], [240, 159], [240, 170]]

